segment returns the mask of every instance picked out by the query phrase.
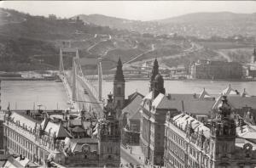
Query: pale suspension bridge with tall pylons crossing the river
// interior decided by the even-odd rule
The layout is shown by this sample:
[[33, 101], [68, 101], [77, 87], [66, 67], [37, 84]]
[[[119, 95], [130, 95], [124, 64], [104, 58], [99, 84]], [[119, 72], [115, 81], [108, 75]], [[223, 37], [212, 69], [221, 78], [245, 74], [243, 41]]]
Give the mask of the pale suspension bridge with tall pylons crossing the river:
[[[75, 53], [72, 57], [72, 70], [65, 70], [63, 64], [64, 53]], [[95, 65], [93, 73], [84, 74], [82, 65]], [[96, 72], [96, 73], [95, 73]], [[58, 73], [69, 98], [71, 110], [88, 112], [102, 116], [102, 59], [79, 58], [78, 48], [60, 48], [60, 65]], [[97, 82], [96, 82], [97, 81]]]

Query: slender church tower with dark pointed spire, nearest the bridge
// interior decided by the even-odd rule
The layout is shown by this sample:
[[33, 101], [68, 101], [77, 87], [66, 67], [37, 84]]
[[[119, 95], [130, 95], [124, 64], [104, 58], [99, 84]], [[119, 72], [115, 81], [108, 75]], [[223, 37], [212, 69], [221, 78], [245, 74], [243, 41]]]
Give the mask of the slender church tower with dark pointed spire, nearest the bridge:
[[123, 65], [119, 58], [113, 80], [113, 104], [118, 109], [123, 109], [125, 105], [125, 76], [122, 67]]

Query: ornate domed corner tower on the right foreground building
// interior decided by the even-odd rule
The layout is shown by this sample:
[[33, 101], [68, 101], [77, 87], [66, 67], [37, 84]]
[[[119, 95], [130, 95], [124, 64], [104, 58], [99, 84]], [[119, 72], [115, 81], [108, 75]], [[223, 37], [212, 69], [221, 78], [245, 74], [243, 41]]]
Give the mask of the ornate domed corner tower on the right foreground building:
[[232, 154], [235, 153], [236, 123], [226, 96], [218, 105], [218, 115], [212, 120], [210, 133], [211, 156], [212, 160], [216, 160], [212, 167], [218, 167], [232, 160]]

